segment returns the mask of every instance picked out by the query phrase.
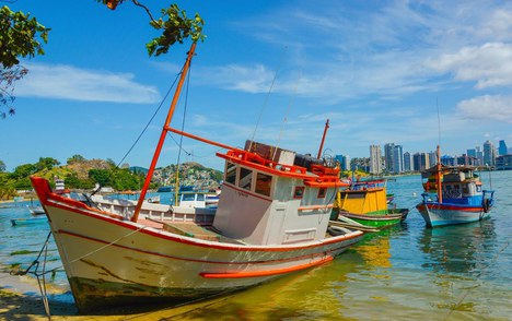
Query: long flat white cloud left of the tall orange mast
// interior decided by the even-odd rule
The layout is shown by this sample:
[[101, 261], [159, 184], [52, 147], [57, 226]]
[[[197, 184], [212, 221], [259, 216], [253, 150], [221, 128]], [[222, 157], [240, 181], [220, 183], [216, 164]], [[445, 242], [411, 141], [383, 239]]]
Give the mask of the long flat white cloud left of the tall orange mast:
[[28, 74], [16, 84], [16, 96], [150, 104], [161, 99], [154, 86], [133, 81], [131, 73], [85, 70], [65, 64], [25, 63]]

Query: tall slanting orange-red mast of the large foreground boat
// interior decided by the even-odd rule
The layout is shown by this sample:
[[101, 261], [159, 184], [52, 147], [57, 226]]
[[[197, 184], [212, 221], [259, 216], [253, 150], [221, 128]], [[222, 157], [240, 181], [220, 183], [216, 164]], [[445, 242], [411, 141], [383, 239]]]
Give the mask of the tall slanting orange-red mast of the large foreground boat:
[[171, 120], [173, 119], [174, 109], [176, 108], [177, 102], [179, 99], [179, 93], [182, 92], [183, 83], [185, 82], [185, 78], [187, 76], [188, 68], [190, 67], [190, 61], [194, 56], [195, 49], [196, 49], [196, 43], [193, 43], [190, 46], [190, 50], [188, 51], [187, 60], [185, 61], [185, 64], [183, 66], [182, 76], [179, 78], [176, 92], [174, 93], [173, 102], [171, 103], [171, 107], [168, 108], [167, 118], [165, 119], [165, 123], [162, 128], [162, 133], [160, 134], [159, 144], [156, 145], [156, 150], [154, 151], [154, 154], [153, 154], [153, 160], [151, 160], [150, 168], [148, 169], [148, 175], [146, 176], [144, 186], [142, 187], [142, 190], [140, 191], [140, 198], [139, 198], [139, 201], [137, 202], [133, 216], [131, 216], [131, 222], [137, 222], [137, 219], [139, 218], [140, 209], [142, 207], [142, 202], [144, 201], [146, 193], [148, 192], [151, 178], [153, 178], [153, 171], [154, 171], [154, 168], [156, 167], [156, 163], [159, 162], [160, 152], [162, 152], [162, 146], [165, 141], [165, 136], [167, 135], [168, 124], [171, 123]]

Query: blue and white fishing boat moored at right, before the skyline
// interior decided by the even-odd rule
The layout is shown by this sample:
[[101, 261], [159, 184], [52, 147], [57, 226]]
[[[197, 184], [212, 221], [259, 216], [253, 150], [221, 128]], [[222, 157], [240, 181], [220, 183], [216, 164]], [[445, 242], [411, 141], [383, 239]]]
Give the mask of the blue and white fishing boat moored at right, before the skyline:
[[[474, 166], [444, 166], [438, 164], [423, 171], [424, 178], [435, 177], [435, 183], [427, 181], [423, 200], [416, 209], [421, 213], [427, 226], [435, 227], [477, 222], [488, 218], [494, 204], [492, 190], [484, 190]], [[428, 188], [428, 187], [433, 188]], [[439, 188], [441, 187], [441, 188]], [[435, 194], [432, 194], [432, 190]]]

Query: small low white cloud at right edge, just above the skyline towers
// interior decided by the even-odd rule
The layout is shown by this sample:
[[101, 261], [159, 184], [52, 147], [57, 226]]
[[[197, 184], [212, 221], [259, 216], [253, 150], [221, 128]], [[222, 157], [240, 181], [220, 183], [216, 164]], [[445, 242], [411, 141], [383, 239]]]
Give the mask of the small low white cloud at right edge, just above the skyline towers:
[[457, 110], [467, 119], [499, 120], [512, 123], [512, 96], [485, 95], [461, 102]]

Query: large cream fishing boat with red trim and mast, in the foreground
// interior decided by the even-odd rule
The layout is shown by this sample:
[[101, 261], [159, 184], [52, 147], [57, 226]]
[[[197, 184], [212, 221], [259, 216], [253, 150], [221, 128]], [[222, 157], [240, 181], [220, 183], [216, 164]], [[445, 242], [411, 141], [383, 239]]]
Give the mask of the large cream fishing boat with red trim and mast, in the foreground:
[[[254, 141], [235, 148], [170, 127], [195, 47], [135, 209], [72, 200], [44, 178], [31, 178], [81, 312], [244, 289], [329, 262], [363, 236], [329, 226], [331, 200], [344, 186], [339, 168]], [[217, 153], [225, 163], [224, 183], [211, 223], [143, 202], [168, 132], [225, 150]], [[212, 211], [190, 211], [199, 210]]]

